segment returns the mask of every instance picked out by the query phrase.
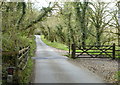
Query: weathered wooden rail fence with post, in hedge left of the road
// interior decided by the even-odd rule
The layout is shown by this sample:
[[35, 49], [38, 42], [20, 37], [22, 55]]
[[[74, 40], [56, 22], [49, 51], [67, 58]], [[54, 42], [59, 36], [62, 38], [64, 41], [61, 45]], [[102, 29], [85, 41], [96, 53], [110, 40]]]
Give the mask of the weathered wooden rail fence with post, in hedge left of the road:
[[[14, 79], [15, 82], [18, 82], [17, 79], [19, 75], [19, 71], [22, 71], [26, 68], [28, 59], [29, 59], [29, 50], [30, 47], [23, 47], [19, 51], [14, 51], [14, 52], [8, 52], [8, 51], [2, 51], [2, 57], [3, 57], [3, 64], [9, 64], [8, 67], [4, 68], [14, 68]], [[9, 62], [11, 61], [11, 62]]]

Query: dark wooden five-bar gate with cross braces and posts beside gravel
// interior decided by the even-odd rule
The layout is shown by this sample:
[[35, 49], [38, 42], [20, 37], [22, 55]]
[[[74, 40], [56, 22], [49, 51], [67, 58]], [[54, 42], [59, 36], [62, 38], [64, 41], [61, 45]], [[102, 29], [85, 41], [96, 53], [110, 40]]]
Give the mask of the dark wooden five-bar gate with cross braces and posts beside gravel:
[[85, 45], [72, 44], [72, 58], [113, 58], [115, 59], [116, 45]]

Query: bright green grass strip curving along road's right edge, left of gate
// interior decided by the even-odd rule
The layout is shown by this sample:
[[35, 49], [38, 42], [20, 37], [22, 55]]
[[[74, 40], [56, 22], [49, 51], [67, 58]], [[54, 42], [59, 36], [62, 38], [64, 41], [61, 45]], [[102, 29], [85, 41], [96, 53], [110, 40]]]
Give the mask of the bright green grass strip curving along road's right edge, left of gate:
[[66, 51], [69, 50], [66, 45], [58, 43], [58, 42], [50, 42], [50, 41], [46, 40], [43, 35], [41, 36], [41, 39], [48, 46], [51, 46], [51, 47], [54, 47], [54, 48], [57, 48], [57, 49], [60, 49], [60, 50], [66, 50]]

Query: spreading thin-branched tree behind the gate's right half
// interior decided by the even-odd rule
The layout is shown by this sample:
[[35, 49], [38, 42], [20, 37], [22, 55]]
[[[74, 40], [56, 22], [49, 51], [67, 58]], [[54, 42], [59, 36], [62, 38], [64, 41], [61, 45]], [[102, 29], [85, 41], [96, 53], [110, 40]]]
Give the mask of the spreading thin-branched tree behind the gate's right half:
[[89, 10], [89, 18], [91, 24], [95, 28], [96, 44], [101, 45], [101, 38], [104, 30], [110, 23], [111, 19], [108, 20], [109, 10], [107, 9], [108, 4], [104, 2], [97, 2], [91, 4], [91, 10]]

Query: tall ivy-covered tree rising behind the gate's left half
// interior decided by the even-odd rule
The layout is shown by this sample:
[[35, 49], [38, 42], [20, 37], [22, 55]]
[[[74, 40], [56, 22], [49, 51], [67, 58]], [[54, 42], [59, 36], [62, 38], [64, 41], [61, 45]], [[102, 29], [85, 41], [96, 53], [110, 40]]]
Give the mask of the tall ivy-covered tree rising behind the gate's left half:
[[89, 2], [86, 2], [84, 0], [84, 2], [75, 2], [74, 3], [74, 10], [75, 10], [75, 16], [76, 16], [76, 22], [77, 25], [76, 27], [78, 27], [77, 29], [79, 29], [79, 33], [81, 33], [81, 40], [82, 41], [82, 45], [85, 46], [86, 45], [86, 39], [87, 39], [87, 10], [88, 10], [88, 4]]

